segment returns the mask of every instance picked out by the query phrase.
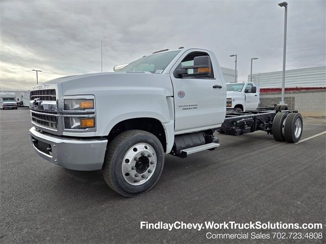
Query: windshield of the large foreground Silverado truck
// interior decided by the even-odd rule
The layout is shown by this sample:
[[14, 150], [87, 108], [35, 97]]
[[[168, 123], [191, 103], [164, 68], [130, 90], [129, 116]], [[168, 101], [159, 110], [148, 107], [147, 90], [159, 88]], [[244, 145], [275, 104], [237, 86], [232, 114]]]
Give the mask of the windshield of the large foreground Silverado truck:
[[[120, 71], [162, 73], [180, 51], [163, 52], [142, 57], [130, 63]], [[120, 72], [119, 71], [119, 72]]]

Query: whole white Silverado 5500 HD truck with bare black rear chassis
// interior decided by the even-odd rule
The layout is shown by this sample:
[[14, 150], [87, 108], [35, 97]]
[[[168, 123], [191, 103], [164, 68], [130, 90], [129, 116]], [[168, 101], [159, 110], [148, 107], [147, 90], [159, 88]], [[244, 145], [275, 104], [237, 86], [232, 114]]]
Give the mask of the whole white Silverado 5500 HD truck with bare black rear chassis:
[[72, 170], [102, 170], [108, 186], [126, 197], [155, 185], [164, 154], [185, 158], [219, 147], [214, 131], [262, 130], [278, 141], [300, 139], [303, 123], [297, 111], [226, 114], [226, 99], [211, 51], [163, 50], [119, 72], [33, 86], [29, 134], [40, 157]]

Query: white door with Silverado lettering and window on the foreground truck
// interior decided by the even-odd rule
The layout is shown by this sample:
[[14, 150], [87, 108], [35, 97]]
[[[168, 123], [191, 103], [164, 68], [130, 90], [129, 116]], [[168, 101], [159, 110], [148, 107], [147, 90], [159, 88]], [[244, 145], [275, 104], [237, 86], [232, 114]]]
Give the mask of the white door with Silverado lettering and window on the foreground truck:
[[[181, 78], [175, 70], [194, 65], [196, 56], [210, 56], [202, 51], [184, 53], [171, 70], [174, 89], [175, 134], [219, 127], [225, 119], [226, 87], [219, 76], [218, 64], [212, 63], [211, 77]], [[191, 70], [188, 70], [191, 74]], [[215, 88], [214, 88], [215, 87]]]

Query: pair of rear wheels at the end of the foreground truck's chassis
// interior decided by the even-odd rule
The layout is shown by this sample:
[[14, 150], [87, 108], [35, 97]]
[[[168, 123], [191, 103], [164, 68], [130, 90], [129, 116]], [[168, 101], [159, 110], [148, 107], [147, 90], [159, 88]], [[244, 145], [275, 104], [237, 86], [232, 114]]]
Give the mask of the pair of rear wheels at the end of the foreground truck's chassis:
[[300, 113], [279, 112], [273, 120], [273, 137], [277, 141], [296, 143], [300, 140], [303, 120]]

